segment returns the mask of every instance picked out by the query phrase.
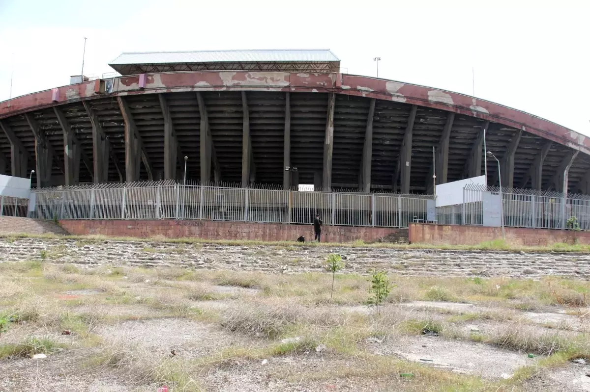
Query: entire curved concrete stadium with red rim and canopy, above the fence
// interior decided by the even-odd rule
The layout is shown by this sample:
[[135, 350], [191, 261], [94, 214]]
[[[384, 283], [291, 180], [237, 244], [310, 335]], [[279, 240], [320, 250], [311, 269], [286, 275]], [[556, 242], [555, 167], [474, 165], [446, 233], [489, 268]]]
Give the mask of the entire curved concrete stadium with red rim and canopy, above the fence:
[[[484, 173], [590, 193], [590, 141], [468, 95], [343, 74], [329, 50], [122, 54], [122, 75], [0, 102], [0, 173], [37, 187], [179, 179], [432, 192]], [[515, 92], [516, 93], [516, 92]], [[296, 170], [295, 170], [296, 168]], [[496, 161], [487, 180], [498, 184]]]

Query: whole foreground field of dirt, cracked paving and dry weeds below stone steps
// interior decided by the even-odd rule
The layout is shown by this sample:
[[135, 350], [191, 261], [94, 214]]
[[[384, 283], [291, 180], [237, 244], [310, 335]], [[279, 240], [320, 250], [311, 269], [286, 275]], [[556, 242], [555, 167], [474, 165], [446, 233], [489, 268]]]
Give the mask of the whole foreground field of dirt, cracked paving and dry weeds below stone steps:
[[590, 391], [588, 280], [2, 257], [0, 391]]

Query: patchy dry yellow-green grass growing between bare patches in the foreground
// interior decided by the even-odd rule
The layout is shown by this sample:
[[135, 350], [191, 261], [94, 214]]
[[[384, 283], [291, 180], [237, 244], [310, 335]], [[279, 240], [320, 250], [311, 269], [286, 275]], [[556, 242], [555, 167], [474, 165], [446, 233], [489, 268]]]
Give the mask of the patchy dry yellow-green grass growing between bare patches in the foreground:
[[[156, 248], [157, 249], [157, 248]], [[326, 346], [329, 358], [359, 358], [358, 366], [337, 365], [327, 370], [303, 373], [294, 367], [287, 375], [273, 377], [310, 380], [388, 380], [399, 390], [511, 390], [532, 374], [523, 368], [510, 383], [484, 383], [422, 364], [392, 357], [376, 357], [365, 351], [363, 342], [376, 337], [395, 339], [407, 334], [438, 334], [449, 340], [473, 340], [505, 350], [549, 355], [542, 364], [556, 366], [573, 357], [590, 357], [587, 335], [576, 336], [559, 329], [539, 333], [527, 329], [522, 310], [545, 310], [559, 305], [584, 318], [590, 283], [548, 277], [540, 281], [507, 278], [445, 278], [391, 276], [396, 287], [380, 312], [366, 307], [369, 283], [355, 274], [336, 275], [335, 293], [329, 301], [331, 276], [322, 273], [280, 274], [243, 271], [189, 271], [181, 268], [93, 268], [47, 263], [0, 263], [0, 315], [10, 314], [15, 322], [67, 329], [74, 338], [63, 346], [55, 339], [30, 336], [21, 343], [2, 345], [1, 356], [51, 353], [59, 348], [84, 348], [86, 366], [96, 371], [116, 372], [138, 386], [166, 383], [175, 390], [201, 390], [205, 371], [231, 366], [236, 358], [260, 361], [273, 356], [297, 356]], [[239, 288], [219, 293], [215, 285]], [[242, 290], [249, 288], [258, 290]], [[68, 290], [97, 290], [93, 295], [61, 298]], [[242, 293], [248, 291], [248, 293]], [[231, 299], [231, 301], [228, 301]], [[219, 301], [222, 300], [222, 301]], [[397, 305], [411, 300], [468, 301], [493, 304], [493, 311], [459, 312], [435, 308], [412, 310]], [[195, 307], [195, 301], [199, 307]], [[218, 302], [219, 301], [219, 302]], [[218, 307], [201, 307], [202, 303]], [[100, 325], [134, 317], [112, 317], [108, 309], [124, 304], [130, 309], [153, 310], [153, 317], [182, 317], [223, 328], [230, 335], [253, 341], [251, 346], [232, 347], [212, 356], [186, 360], [155, 355], [142, 344], [105, 341], [94, 331]], [[84, 311], [78, 307], [84, 306]], [[152, 316], [149, 316], [152, 317]], [[468, 334], [466, 323], [485, 320], [506, 325], [495, 334]], [[14, 324], [16, 325], [16, 324]], [[14, 326], [13, 325], [13, 326]], [[281, 343], [284, 338], [300, 337]], [[36, 340], [35, 340], [36, 339]], [[36, 351], [37, 350], [37, 351]], [[330, 357], [331, 356], [331, 357]], [[259, 367], [258, 363], [255, 368]], [[415, 374], [413, 381], [399, 383], [399, 373]], [[389, 380], [391, 378], [391, 380]], [[352, 382], [352, 381], [351, 381]]]

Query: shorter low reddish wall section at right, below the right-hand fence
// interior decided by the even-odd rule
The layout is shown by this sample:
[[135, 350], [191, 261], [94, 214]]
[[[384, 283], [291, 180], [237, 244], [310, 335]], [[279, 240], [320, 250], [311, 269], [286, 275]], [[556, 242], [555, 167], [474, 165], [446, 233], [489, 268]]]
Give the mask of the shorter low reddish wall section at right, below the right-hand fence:
[[[533, 228], [504, 228], [512, 245], [548, 246], [552, 244], [590, 244], [590, 232]], [[409, 225], [411, 244], [477, 245], [502, 238], [501, 228], [483, 226], [417, 224]]]

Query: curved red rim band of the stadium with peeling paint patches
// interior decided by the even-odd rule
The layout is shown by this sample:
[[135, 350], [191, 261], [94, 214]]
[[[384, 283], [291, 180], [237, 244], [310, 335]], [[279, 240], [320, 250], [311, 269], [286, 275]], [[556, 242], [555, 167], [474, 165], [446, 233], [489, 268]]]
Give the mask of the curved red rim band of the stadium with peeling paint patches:
[[[0, 119], [35, 109], [104, 96], [155, 94], [178, 91], [300, 91], [386, 99], [452, 111], [486, 119], [530, 132], [590, 155], [590, 140], [571, 129], [516, 109], [456, 92], [345, 74], [304, 74], [300, 72], [173, 72], [114, 79], [110, 94], [101, 94], [100, 81], [90, 81], [35, 92], [0, 102]], [[143, 85], [143, 83], [142, 83]], [[54, 99], [57, 98], [57, 101]]]

